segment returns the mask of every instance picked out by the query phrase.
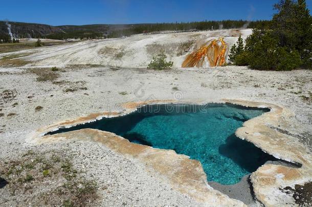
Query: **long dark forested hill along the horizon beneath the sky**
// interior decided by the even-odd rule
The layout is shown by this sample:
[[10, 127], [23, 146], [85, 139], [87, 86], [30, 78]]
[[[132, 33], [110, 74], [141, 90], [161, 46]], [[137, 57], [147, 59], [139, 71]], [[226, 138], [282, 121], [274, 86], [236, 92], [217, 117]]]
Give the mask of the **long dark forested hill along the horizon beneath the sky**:
[[245, 21], [245, 20], [223, 20], [223, 21], [197, 21], [163, 24], [135, 24], [135, 25], [83, 25], [83, 26], [50, 26], [24, 22], [0, 21], [0, 39], [10, 35], [9, 28], [14, 38], [99, 38], [99, 37], [122, 37], [132, 34], [146, 32], [157, 32], [165, 30], [210, 30], [210, 29], [232, 29], [232, 28], [268, 28], [271, 21]]

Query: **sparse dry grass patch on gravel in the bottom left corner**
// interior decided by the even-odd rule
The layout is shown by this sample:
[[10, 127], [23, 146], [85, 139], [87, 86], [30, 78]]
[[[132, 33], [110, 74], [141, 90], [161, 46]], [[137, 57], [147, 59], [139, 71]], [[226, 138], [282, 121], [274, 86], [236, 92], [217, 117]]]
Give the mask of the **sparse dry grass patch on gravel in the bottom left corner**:
[[30, 150], [18, 159], [0, 160], [0, 174], [7, 182], [4, 190], [23, 197], [21, 206], [93, 206], [99, 198], [96, 181], [79, 173], [61, 152]]

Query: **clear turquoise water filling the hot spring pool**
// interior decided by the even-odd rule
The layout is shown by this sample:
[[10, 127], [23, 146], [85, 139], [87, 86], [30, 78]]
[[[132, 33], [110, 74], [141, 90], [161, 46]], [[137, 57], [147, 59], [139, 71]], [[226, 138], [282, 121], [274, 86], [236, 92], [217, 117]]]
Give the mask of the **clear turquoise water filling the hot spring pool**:
[[268, 111], [231, 104], [149, 105], [124, 117], [102, 119], [50, 134], [82, 128], [114, 132], [134, 143], [172, 149], [197, 159], [208, 181], [232, 185], [274, 159], [234, 134], [243, 122]]

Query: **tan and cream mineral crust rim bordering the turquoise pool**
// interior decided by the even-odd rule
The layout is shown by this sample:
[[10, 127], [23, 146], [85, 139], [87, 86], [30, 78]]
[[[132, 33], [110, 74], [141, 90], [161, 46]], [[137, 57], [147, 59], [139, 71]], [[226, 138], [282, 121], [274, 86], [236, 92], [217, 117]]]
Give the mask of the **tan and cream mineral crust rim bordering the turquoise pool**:
[[[294, 186], [312, 180], [312, 156], [308, 149], [296, 142], [294, 137], [280, 133], [270, 126], [276, 128], [289, 126], [294, 113], [282, 106], [269, 103], [251, 102], [244, 100], [221, 99], [215, 102], [205, 101], [176, 101], [176, 100], [152, 100], [145, 102], [127, 102], [123, 104], [122, 112], [99, 112], [92, 113], [86, 117], [79, 117], [74, 120], [65, 120], [53, 125], [43, 127], [32, 132], [27, 136], [27, 141], [33, 144], [60, 142], [68, 139], [84, 140], [102, 143], [106, 147], [121, 153], [129, 158], [139, 160], [140, 163], [147, 165], [149, 170], [160, 174], [161, 179], [169, 182], [173, 189], [181, 193], [188, 194], [190, 197], [206, 205], [232, 205], [244, 206], [241, 201], [231, 199], [227, 195], [212, 189], [207, 183], [206, 174], [202, 165], [197, 160], [192, 160], [186, 155], [176, 154], [173, 150], [154, 149], [152, 147], [130, 143], [128, 140], [114, 133], [95, 130], [82, 129], [78, 131], [65, 132], [62, 134], [46, 135], [61, 127], [73, 127], [79, 124], [93, 122], [103, 118], [125, 116], [136, 111], [139, 107], [151, 104], [198, 104], [208, 103], [230, 103], [246, 107], [270, 108], [271, 111], [259, 117], [248, 120], [243, 126], [238, 128], [235, 134], [242, 140], [253, 143], [264, 152], [276, 158], [288, 162], [302, 164], [299, 169], [289, 168], [279, 165], [263, 165], [252, 173], [251, 181], [253, 184], [256, 199], [264, 205], [273, 206], [283, 204], [284, 194], [277, 192], [282, 187]], [[290, 144], [289, 144], [290, 143]], [[295, 144], [295, 146], [291, 145]], [[164, 162], [161, 157], [171, 157], [171, 162]], [[164, 170], [171, 166], [171, 170]], [[191, 170], [190, 170], [191, 169]], [[291, 198], [287, 202], [293, 202]]]

